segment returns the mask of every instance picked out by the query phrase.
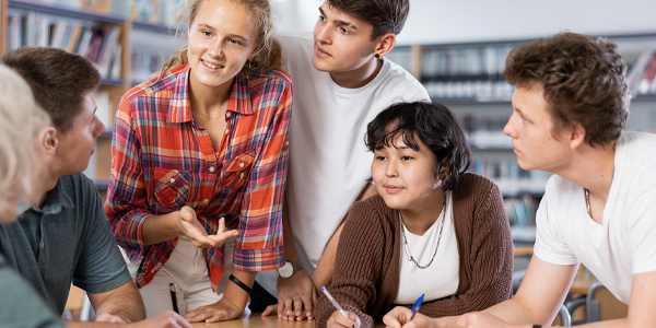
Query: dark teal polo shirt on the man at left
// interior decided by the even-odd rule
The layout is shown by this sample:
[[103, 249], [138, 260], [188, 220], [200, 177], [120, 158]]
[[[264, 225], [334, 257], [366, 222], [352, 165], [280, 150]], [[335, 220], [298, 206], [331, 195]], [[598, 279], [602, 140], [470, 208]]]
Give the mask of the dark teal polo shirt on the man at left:
[[103, 200], [81, 173], [61, 177], [40, 209], [31, 207], [16, 222], [0, 225], [0, 251], [58, 315], [71, 282], [104, 293], [130, 279]]

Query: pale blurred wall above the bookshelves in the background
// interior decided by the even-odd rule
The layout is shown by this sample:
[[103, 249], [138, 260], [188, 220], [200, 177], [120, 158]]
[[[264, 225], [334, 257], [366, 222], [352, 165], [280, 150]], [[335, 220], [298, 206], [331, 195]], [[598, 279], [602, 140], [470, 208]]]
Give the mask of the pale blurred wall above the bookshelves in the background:
[[[321, 0], [272, 0], [278, 28], [312, 30]], [[410, 0], [399, 45], [656, 33], [655, 0]]]

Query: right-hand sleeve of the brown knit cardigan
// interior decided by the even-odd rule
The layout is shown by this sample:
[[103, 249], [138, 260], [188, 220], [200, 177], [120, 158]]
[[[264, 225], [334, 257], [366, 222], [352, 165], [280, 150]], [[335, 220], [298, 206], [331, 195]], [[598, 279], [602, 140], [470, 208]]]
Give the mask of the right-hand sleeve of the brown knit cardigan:
[[460, 251], [468, 251], [460, 255], [460, 266], [464, 267], [459, 276], [464, 285], [459, 285], [458, 292], [452, 296], [424, 303], [420, 312], [427, 316], [444, 317], [482, 311], [512, 295], [513, 242], [501, 191], [491, 181], [476, 185], [470, 189], [476, 195], [470, 216], [454, 218], [471, 221], [468, 224], [471, 229], [470, 243], [460, 246], [465, 248]]

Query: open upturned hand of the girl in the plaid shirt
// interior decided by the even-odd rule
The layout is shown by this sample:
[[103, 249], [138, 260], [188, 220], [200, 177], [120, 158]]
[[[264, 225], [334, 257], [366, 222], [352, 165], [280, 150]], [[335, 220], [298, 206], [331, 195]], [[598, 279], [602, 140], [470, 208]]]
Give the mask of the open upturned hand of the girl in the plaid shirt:
[[219, 220], [219, 231], [215, 235], [208, 235], [200, 221], [196, 216], [196, 211], [190, 207], [183, 207], [180, 214], [180, 232], [191, 241], [191, 244], [198, 248], [221, 247], [223, 243], [237, 235], [236, 230], [225, 231], [225, 219]]

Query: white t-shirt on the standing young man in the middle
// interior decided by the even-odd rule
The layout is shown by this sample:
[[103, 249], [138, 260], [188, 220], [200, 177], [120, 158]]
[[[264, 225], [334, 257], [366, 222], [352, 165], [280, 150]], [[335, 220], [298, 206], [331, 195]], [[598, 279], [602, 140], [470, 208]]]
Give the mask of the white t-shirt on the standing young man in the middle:
[[[387, 59], [366, 85], [341, 87], [313, 66], [312, 32], [286, 32], [279, 39], [282, 69], [292, 77], [294, 89], [285, 194], [296, 250], [312, 274], [371, 177], [366, 125], [394, 103], [430, 97], [417, 79]], [[276, 295], [277, 277], [274, 271], [261, 272], [257, 281]]]

